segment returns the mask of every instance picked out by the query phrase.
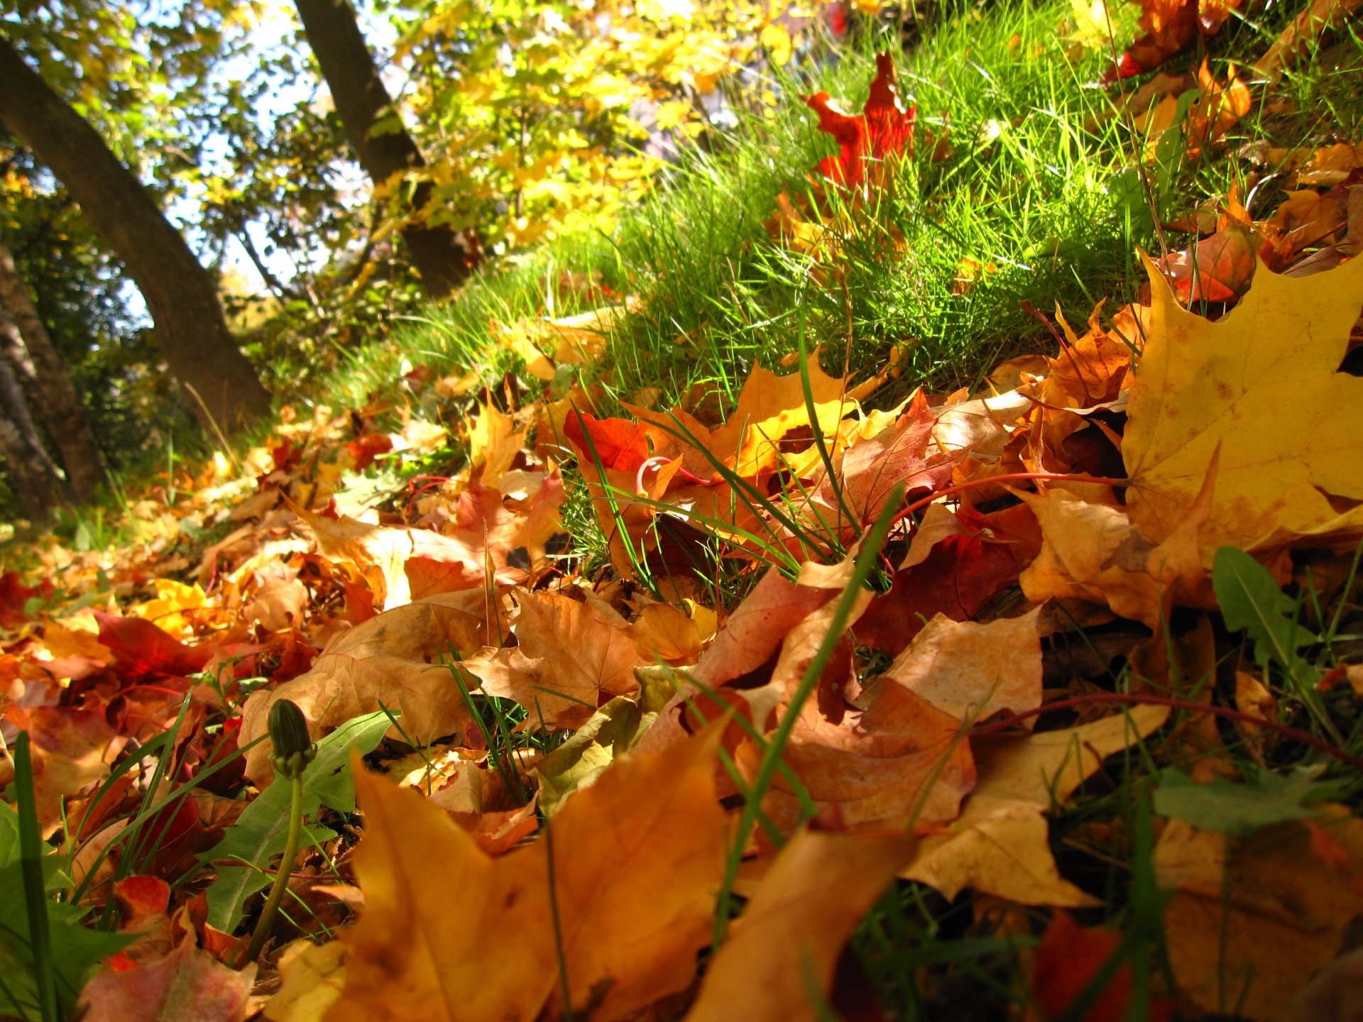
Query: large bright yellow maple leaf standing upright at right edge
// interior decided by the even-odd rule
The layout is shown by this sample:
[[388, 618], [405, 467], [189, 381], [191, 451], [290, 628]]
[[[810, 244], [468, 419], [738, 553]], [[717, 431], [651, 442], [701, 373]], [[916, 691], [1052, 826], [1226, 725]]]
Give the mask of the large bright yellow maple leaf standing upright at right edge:
[[1363, 259], [1313, 277], [1264, 266], [1216, 323], [1146, 259], [1152, 308], [1122, 455], [1131, 521], [1156, 542], [1187, 516], [1217, 447], [1205, 546], [1363, 527], [1363, 383], [1337, 372], [1363, 308]]

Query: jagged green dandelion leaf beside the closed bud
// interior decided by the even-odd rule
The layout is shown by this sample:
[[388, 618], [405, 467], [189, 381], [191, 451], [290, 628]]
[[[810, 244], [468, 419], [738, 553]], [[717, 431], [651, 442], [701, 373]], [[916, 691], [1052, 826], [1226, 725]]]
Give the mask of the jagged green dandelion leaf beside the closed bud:
[[[350, 775], [350, 751], [368, 755], [378, 748], [391, 726], [386, 713], [371, 713], [346, 721], [318, 743], [318, 758], [303, 774], [303, 815], [311, 816], [320, 805], [337, 812], [354, 811], [354, 778]], [[284, 852], [289, 834], [289, 785], [270, 785], [245, 808], [222, 841], [200, 858], [214, 861], [234, 858], [251, 865], [221, 867], [218, 879], [209, 887], [209, 924], [230, 933], [241, 923], [247, 899], [270, 884], [264, 872], [271, 860]], [[307, 827], [304, 841], [327, 841], [335, 834], [326, 827]]]

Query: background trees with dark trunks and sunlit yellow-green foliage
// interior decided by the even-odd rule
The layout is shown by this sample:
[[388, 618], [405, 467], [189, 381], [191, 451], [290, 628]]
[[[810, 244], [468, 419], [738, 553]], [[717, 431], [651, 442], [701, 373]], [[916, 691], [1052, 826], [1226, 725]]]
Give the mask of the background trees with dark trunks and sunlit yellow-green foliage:
[[[31, 379], [12, 372], [65, 409], [60, 429], [30, 414], [63, 493], [87, 499], [101, 458], [136, 461], [185, 409], [262, 414], [262, 375], [289, 398], [484, 251], [608, 228], [784, 35], [750, 0], [369, 3], [296, 0], [292, 20], [234, 0], [0, 0], [11, 293], [71, 380], [33, 345]], [[82, 259], [34, 258], [40, 202], [67, 204]], [[89, 293], [98, 324], [59, 328], [55, 293]]]

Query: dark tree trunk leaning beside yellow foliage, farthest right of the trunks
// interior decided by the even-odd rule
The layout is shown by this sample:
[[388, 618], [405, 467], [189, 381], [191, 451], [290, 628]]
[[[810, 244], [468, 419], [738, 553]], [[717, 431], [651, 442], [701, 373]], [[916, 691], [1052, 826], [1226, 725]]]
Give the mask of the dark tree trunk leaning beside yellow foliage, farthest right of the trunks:
[[[393, 99], [383, 87], [349, 0], [294, 0], [294, 5], [350, 147], [369, 180], [383, 184], [394, 174], [425, 166], [421, 151], [401, 124], [397, 131], [371, 134], [375, 123], [390, 112]], [[410, 208], [420, 210], [429, 198], [431, 183], [421, 181]], [[472, 253], [450, 228], [409, 223], [401, 233], [432, 297], [448, 294], [469, 275]]]

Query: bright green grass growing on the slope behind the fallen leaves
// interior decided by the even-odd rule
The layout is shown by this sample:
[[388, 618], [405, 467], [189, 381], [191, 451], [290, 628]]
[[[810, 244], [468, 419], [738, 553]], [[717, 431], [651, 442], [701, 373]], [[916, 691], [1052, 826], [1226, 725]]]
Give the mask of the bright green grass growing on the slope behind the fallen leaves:
[[[488, 319], [542, 315], [560, 268], [600, 270], [616, 290], [643, 298], [642, 311], [611, 338], [600, 376], [608, 392], [626, 398], [650, 386], [667, 402], [698, 384], [732, 398], [755, 362], [771, 365], [793, 350], [799, 330], [834, 352], [826, 368], [840, 369], [849, 316], [853, 371], [879, 368], [891, 346], [908, 353], [904, 377], [878, 395], [885, 402], [919, 384], [970, 386], [1002, 357], [1051, 350], [1052, 338], [1024, 301], [1047, 313], [1059, 305], [1074, 323], [1100, 300], [1118, 308], [1139, 288], [1137, 249], [1160, 245], [1131, 169], [1139, 142], [1101, 116], [1108, 91], [1094, 82], [1109, 57], [1065, 59], [1058, 25], [1069, 12], [1065, 3], [962, 10], [900, 63], [901, 90], [916, 98], [920, 124], [940, 131], [949, 123], [954, 153], [932, 164], [920, 146], [894, 195], [872, 215], [851, 219], [841, 238], [845, 290], [811, 277], [808, 263], [773, 244], [765, 225], [776, 196], [799, 196], [808, 168], [830, 149], [796, 97], [821, 87], [860, 109], [874, 40], [821, 69], [815, 82], [786, 78], [777, 110], [740, 119], [718, 154], [683, 161], [669, 188], [615, 237], [560, 241], [433, 309], [356, 368], [352, 394], [391, 379], [402, 357], [433, 358], [447, 369], [504, 368], [506, 354], [488, 346]], [[1217, 78], [1225, 78], [1228, 55], [1249, 64], [1280, 27], [1280, 20], [1227, 26], [1213, 48]], [[1184, 56], [1168, 69], [1199, 59]], [[1223, 199], [1232, 184], [1253, 196], [1255, 214], [1274, 208], [1283, 196], [1273, 177], [1251, 191], [1251, 168], [1234, 154], [1257, 139], [1285, 147], [1356, 140], [1363, 94], [1351, 75], [1360, 67], [1363, 42], [1345, 34], [1274, 90], [1257, 90], [1255, 109], [1216, 154], [1195, 162], [1179, 154], [1156, 174], [1156, 188], [1165, 183], [1156, 196], [1161, 217]], [[1167, 240], [1174, 248], [1189, 244], [1179, 233]], [[953, 285], [965, 259], [996, 271], [958, 294]], [[556, 311], [574, 308], [557, 297]], [[590, 546], [593, 522], [585, 507], [574, 510], [574, 536]], [[1138, 818], [1133, 793], [1142, 756], [1133, 748], [1115, 764], [1108, 790], [1058, 814], [1051, 831], [1067, 875], [1086, 872], [1086, 887], [1107, 890], [1108, 905], [1124, 905], [1129, 929], [1160, 912], [1149, 882], [1149, 820]], [[1104, 860], [1086, 852], [1089, 823], [1131, 835], [1126, 854]], [[980, 928], [972, 905], [900, 884], [859, 928], [851, 974], [860, 973], [895, 1018], [1003, 1017], [1020, 988], [1017, 951], [983, 936], [994, 931]], [[1133, 961], [1157, 972], [1168, 966], [1156, 931], [1157, 924]], [[919, 972], [934, 963], [950, 967]]]

